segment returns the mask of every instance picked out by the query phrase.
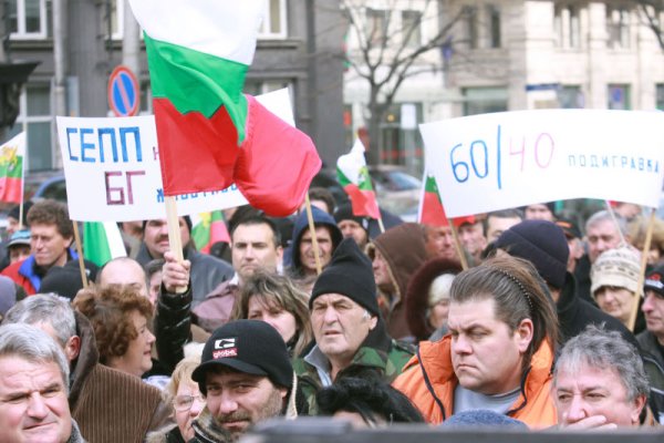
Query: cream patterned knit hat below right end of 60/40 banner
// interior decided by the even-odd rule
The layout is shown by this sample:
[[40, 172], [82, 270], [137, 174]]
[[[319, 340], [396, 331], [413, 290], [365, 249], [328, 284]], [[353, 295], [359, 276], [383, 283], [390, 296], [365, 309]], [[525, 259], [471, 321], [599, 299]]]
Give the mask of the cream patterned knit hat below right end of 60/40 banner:
[[590, 293], [594, 297], [595, 291], [603, 286], [642, 293], [643, 288], [637, 287], [640, 261], [639, 254], [625, 246], [603, 251], [590, 268]]

